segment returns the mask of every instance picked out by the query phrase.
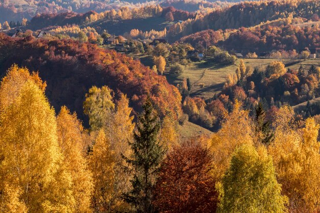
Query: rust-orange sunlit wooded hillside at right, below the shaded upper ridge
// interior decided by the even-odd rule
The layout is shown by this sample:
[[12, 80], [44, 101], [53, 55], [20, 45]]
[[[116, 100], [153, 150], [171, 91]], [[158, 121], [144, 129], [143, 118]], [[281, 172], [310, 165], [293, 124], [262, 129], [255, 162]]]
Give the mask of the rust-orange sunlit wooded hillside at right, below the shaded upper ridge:
[[299, 53], [305, 48], [320, 48], [319, 25], [303, 20], [284, 18], [238, 30], [205, 30], [182, 37], [180, 42], [202, 48], [218, 45], [229, 51], [257, 54], [277, 50], [296, 50]]

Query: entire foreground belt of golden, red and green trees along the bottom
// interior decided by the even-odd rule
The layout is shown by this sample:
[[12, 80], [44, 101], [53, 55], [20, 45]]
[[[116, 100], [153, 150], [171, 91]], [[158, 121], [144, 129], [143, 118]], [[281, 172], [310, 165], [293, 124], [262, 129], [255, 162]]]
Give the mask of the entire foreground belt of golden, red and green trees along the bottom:
[[1, 212], [319, 211], [319, 127], [288, 106], [249, 116], [235, 101], [210, 138], [179, 139], [149, 97], [134, 119], [126, 94], [94, 86], [84, 129], [46, 86], [16, 65], [1, 82]]

